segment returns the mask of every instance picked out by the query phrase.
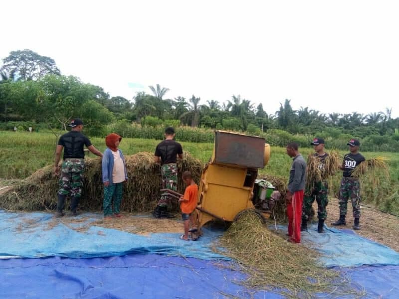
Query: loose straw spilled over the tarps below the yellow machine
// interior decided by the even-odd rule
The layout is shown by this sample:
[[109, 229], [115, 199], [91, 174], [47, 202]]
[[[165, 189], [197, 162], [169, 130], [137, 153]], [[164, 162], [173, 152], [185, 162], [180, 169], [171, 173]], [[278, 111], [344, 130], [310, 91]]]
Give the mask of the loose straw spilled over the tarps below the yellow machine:
[[285, 241], [250, 211], [232, 223], [219, 243], [238, 263], [238, 270], [248, 274], [247, 280], [238, 282], [248, 288], [278, 290], [291, 298], [351, 293], [338, 272], [318, 264], [316, 251]]

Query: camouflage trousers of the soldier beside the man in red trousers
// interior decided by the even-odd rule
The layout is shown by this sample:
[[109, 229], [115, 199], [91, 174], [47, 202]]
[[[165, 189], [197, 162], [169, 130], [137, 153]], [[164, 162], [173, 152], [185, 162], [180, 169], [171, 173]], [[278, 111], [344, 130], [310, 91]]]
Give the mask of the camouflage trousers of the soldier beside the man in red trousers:
[[302, 206], [302, 219], [309, 219], [310, 210], [312, 209], [313, 202], [317, 202], [317, 217], [319, 220], [325, 220], [327, 218], [327, 205], [328, 205], [328, 183], [327, 182], [316, 182], [312, 190], [306, 190], [305, 196], [303, 197]]

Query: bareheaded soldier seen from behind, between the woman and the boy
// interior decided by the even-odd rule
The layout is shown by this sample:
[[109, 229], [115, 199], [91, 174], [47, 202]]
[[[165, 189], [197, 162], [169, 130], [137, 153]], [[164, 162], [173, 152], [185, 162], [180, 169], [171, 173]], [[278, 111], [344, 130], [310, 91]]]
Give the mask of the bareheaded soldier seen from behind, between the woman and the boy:
[[[165, 140], [158, 144], [155, 149], [155, 162], [161, 162], [162, 188], [168, 188], [176, 191], [178, 180], [177, 156], [183, 158], [182, 145], [174, 141], [175, 129], [172, 127], [166, 128]], [[158, 201], [153, 215], [156, 218], [170, 217], [168, 213], [168, 204], [171, 196], [168, 193], [162, 194]]]

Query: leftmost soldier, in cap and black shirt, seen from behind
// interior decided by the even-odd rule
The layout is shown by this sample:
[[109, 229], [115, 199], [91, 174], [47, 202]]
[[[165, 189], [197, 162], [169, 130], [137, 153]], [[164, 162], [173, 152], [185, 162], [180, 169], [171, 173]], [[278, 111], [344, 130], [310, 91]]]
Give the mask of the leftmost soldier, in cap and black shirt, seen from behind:
[[59, 175], [60, 168], [58, 162], [64, 149], [63, 162], [61, 164], [60, 187], [58, 190], [56, 216], [64, 215], [65, 198], [71, 197], [71, 214], [76, 215], [76, 208], [79, 203], [84, 171], [84, 151], [86, 146], [92, 153], [102, 157], [102, 153], [96, 149], [90, 140], [80, 133], [83, 129], [83, 122], [80, 119], [74, 119], [69, 124], [72, 130], [62, 135], [58, 141], [55, 150], [54, 173]]

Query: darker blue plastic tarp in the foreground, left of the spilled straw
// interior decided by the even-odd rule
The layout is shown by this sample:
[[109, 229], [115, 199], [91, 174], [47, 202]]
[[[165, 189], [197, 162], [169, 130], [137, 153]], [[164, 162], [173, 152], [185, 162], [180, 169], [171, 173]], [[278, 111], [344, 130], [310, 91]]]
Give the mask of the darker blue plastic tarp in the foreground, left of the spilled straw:
[[[280, 299], [234, 283], [245, 277], [227, 262], [161, 255], [0, 260], [1, 298]], [[230, 297], [231, 298], [231, 297]]]

